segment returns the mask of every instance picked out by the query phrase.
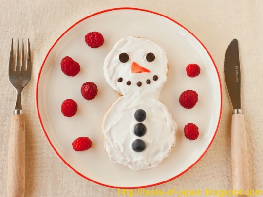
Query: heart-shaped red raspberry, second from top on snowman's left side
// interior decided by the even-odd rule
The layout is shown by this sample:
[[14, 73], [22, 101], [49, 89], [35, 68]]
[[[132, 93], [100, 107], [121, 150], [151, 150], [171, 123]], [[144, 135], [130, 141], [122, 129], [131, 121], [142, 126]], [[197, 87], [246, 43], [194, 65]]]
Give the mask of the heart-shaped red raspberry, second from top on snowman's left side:
[[71, 57], [66, 56], [60, 63], [62, 72], [67, 76], [75, 76], [80, 71], [80, 66]]

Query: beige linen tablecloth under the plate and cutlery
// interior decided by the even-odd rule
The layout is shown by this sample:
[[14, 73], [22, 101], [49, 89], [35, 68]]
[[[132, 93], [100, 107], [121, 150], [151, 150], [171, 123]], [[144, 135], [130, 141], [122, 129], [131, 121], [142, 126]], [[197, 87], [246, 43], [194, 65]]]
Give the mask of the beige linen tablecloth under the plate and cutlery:
[[[22, 94], [26, 121], [26, 197], [110, 197], [118, 189], [87, 181], [56, 156], [40, 128], [35, 86], [40, 66], [56, 39], [72, 24], [114, 7], [138, 7], [173, 18], [194, 33], [211, 53], [222, 80], [220, 127], [205, 156], [185, 174], [152, 190], [230, 190], [232, 106], [224, 80], [225, 50], [240, 47], [251, 190], [263, 190], [263, 1], [262, 0], [0, 0], [0, 197], [7, 191], [8, 139], [15, 90], [8, 81], [11, 38], [30, 38], [32, 80]], [[166, 195], [163, 195], [166, 196]], [[177, 195], [178, 196], [178, 195]], [[261, 195], [257, 195], [261, 196]]]

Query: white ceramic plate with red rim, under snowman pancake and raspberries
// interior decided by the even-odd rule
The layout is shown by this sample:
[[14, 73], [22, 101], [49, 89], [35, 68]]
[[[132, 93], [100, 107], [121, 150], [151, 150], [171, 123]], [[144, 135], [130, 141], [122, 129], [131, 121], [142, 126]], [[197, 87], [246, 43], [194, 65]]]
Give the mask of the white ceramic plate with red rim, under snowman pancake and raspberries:
[[[86, 45], [84, 36], [93, 31], [103, 34], [104, 44], [93, 49]], [[103, 76], [103, 62], [119, 39], [138, 36], [160, 45], [169, 60], [168, 80], [160, 100], [168, 107], [178, 124], [176, 145], [168, 158], [157, 167], [132, 171], [112, 163], [103, 149], [102, 118], [118, 94]], [[68, 77], [60, 69], [63, 57], [77, 61], [81, 70]], [[199, 76], [186, 75], [186, 66], [196, 63]], [[95, 99], [85, 100], [80, 93], [84, 82], [98, 86]], [[199, 101], [192, 109], [179, 104], [180, 94], [195, 90]], [[61, 103], [74, 99], [78, 111], [71, 118], [61, 113]], [[58, 157], [77, 174], [100, 185], [116, 188], [138, 188], [170, 181], [196, 164], [210, 147], [221, 117], [222, 89], [215, 63], [205, 46], [186, 28], [173, 19], [147, 10], [116, 8], [88, 16], [63, 33], [49, 50], [39, 71], [36, 93], [38, 118], [44, 134]], [[189, 123], [199, 127], [197, 140], [184, 136]], [[71, 143], [77, 137], [88, 136], [93, 147], [75, 152]], [[157, 145], [158, 146], [158, 145]]]

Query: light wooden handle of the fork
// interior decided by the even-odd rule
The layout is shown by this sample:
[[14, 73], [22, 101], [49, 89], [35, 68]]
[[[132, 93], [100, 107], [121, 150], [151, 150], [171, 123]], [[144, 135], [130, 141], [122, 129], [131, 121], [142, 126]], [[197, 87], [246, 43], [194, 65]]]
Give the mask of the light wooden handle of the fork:
[[12, 116], [7, 175], [7, 197], [24, 197], [25, 122], [23, 114]]

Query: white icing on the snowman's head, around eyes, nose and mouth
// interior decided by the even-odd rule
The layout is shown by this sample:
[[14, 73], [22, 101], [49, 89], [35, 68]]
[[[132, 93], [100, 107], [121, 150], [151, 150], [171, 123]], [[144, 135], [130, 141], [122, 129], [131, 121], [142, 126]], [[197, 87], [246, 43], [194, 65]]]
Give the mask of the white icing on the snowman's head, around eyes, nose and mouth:
[[[129, 61], [126, 63], [119, 60], [119, 54], [123, 52], [129, 55]], [[146, 55], [150, 52], [156, 57], [153, 62], [146, 60]], [[150, 73], [131, 73], [132, 62], [150, 70]], [[160, 46], [143, 38], [126, 37], [119, 40], [105, 58], [104, 76], [109, 85], [121, 95], [138, 91], [159, 95], [167, 79], [167, 65], [166, 53]], [[158, 76], [158, 80], [154, 85], [147, 85], [146, 80], [153, 82], [154, 75]], [[122, 82], [118, 82], [120, 77], [123, 78]], [[131, 81], [130, 86], [126, 84], [127, 81]], [[142, 82], [142, 86], [138, 87], [137, 82]]]

